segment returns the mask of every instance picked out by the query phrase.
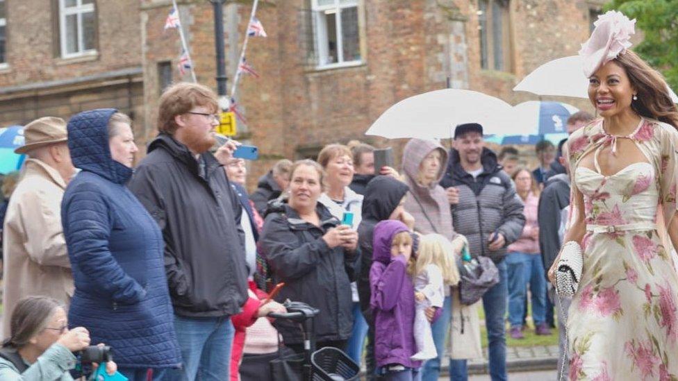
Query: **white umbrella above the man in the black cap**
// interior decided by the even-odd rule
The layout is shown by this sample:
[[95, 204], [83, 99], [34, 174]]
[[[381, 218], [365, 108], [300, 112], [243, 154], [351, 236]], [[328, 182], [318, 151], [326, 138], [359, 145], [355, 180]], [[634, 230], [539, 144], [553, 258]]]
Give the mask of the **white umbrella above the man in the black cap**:
[[389, 139], [452, 137], [458, 124], [479, 123], [483, 133], [511, 133], [509, 103], [471, 90], [445, 89], [411, 96], [392, 105], [365, 135]]

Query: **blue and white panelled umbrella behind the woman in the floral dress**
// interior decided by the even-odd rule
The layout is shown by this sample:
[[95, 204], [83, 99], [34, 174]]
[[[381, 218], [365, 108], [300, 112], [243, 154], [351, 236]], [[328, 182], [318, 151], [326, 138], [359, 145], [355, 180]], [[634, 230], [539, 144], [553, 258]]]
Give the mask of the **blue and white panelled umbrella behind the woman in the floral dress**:
[[577, 111], [573, 105], [552, 101], [528, 101], [513, 106], [516, 125], [534, 135], [567, 133], [568, 118]]

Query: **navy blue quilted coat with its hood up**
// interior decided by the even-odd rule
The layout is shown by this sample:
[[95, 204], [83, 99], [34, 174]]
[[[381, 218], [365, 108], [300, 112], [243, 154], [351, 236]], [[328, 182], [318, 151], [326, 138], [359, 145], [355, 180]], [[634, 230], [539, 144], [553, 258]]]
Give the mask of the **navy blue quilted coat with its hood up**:
[[120, 367], [178, 367], [163, 235], [125, 187], [132, 169], [111, 158], [108, 119], [115, 112], [85, 111], [68, 122], [71, 158], [82, 169], [61, 205], [75, 280], [69, 325], [111, 346]]

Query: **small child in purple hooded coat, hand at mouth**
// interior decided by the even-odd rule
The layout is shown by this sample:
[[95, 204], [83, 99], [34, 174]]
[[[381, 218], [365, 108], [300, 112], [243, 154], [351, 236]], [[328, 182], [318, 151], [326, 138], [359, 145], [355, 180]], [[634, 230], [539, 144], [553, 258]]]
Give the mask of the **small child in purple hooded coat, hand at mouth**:
[[414, 286], [407, 274], [412, 236], [400, 221], [381, 221], [374, 227], [370, 305], [374, 316], [374, 356], [386, 380], [416, 380], [422, 362], [416, 353], [413, 332]]

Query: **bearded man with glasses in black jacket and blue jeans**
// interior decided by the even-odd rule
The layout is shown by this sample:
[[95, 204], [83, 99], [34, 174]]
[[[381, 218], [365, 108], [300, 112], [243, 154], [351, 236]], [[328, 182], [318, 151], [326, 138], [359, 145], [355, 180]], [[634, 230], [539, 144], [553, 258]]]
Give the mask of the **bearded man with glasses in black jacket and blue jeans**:
[[[247, 298], [242, 208], [208, 150], [219, 124], [217, 96], [178, 83], [160, 96], [158, 130], [129, 183], [165, 240], [165, 271], [181, 347], [180, 380], [228, 380], [233, 325]], [[235, 143], [222, 146], [220, 160]]]

